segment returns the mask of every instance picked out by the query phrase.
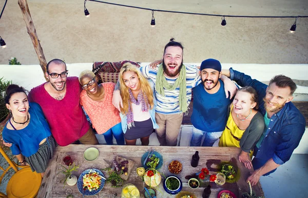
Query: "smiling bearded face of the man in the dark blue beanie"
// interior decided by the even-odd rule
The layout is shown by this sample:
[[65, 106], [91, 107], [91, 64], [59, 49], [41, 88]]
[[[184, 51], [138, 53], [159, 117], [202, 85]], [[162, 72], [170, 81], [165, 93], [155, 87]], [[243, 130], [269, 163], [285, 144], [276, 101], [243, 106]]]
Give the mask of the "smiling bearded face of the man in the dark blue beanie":
[[[214, 69], [203, 69], [201, 71], [201, 79], [206, 90], [212, 90], [218, 84], [218, 79], [221, 76], [221, 72]], [[215, 90], [215, 89], [214, 89]]]

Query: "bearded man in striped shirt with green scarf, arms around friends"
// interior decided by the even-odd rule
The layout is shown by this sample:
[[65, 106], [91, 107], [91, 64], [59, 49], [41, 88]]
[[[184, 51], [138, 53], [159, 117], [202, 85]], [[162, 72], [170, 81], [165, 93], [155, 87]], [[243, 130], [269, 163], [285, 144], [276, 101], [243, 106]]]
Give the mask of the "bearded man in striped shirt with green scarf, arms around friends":
[[[161, 146], [177, 146], [177, 138], [191, 101], [191, 89], [201, 82], [199, 69], [194, 65], [183, 64], [183, 46], [171, 38], [164, 49], [163, 60], [157, 67], [141, 67], [143, 75], [155, 84], [157, 106], [155, 118], [159, 128], [157, 138]], [[233, 95], [236, 86], [225, 79], [229, 92]], [[112, 103], [120, 110], [122, 100], [119, 83], [114, 88]], [[226, 91], [228, 95], [228, 91]]]

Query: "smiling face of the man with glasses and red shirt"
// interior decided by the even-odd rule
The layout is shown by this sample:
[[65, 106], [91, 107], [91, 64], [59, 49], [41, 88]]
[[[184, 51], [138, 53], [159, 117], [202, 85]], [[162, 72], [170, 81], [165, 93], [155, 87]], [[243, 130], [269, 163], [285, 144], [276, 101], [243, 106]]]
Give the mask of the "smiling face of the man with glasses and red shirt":
[[[56, 64], [54, 62], [51, 62], [49, 64], [49, 68], [47, 71], [49, 74], [56, 73], [56, 74], [62, 74], [66, 72], [65, 64]], [[57, 78], [51, 78], [51, 76], [48, 73], [45, 73], [46, 77], [49, 79], [50, 84], [53, 86], [53, 88], [56, 91], [63, 91], [65, 89], [66, 85], [66, 78], [62, 78], [60, 75]]]

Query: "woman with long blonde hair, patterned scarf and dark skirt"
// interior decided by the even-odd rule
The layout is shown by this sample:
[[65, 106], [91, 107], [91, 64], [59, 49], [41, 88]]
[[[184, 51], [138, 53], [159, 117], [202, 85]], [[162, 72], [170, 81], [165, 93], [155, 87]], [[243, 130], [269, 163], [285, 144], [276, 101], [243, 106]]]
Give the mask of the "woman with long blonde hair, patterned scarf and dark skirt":
[[155, 120], [156, 100], [149, 82], [139, 68], [127, 62], [119, 75], [123, 108], [120, 117], [126, 145], [149, 145], [153, 129], [158, 128]]

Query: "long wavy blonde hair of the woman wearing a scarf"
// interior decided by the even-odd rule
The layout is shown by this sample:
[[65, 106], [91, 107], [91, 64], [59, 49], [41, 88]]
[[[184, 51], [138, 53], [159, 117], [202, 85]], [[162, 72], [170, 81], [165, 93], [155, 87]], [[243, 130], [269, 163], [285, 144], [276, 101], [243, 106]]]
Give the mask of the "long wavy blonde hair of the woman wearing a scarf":
[[147, 81], [145, 77], [143, 77], [139, 68], [137, 68], [135, 65], [131, 64], [130, 62], [126, 62], [125, 64], [123, 64], [123, 67], [121, 68], [120, 74], [119, 74], [121, 97], [123, 101], [123, 108], [121, 108], [121, 113], [126, 115], [128, 112], [128, 105], [130, 104], [129, 102], [130, 96], [128, 92], [128, 87], [125, 85], [124, 80], [123, 80], [123, 74], [127, 71], [131, 71], [137, 74], [139, 78], [139, 82], [140, 82], [140, 87], [143, 92], [144, 100], [147, 103], [145, 105], [149, 105], [150, 109], [152, 109], [154, 107], [153, 91], [151, 89], [149, 82]]

